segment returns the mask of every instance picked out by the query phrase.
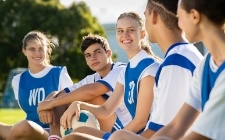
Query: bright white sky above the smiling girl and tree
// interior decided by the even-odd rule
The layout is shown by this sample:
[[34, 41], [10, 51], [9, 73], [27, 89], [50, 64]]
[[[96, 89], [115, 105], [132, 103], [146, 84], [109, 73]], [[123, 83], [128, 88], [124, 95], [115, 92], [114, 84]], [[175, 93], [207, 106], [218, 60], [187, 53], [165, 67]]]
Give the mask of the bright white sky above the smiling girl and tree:
[[65, 6], [73, 1], [84, 1], [90, 7], [93, 16], [100, 23], [116, 22], [118, 16], [123, 12], [134, 11], [144, 17], [147, 0], [60, 0]]

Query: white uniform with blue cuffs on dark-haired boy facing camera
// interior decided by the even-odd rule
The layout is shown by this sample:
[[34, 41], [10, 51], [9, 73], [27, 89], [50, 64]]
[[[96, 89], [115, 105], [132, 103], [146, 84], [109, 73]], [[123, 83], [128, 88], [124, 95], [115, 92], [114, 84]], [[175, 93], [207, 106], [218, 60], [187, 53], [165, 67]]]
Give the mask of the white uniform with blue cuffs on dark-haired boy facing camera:
[[[100, 82], [110, 89], [109, 92], [102, 95], [105, 99], [107, 99], [113, 93], [119, 73], [125, 67], [126, 67], [126, 64], [124, 64], [124, 63], [121, 63], [121, 62], [113, 63], [111, 71], [105, 77], [101, 77], [98, 73], [94, 73], [92, 75], [88, 75], [87, 77], [82, 79], [80, 82], [74, 84], [73, 86], [65, 88], [64, 90], [67, 93], [69, 93], [83, 85], [94, 83], [94, 82]], [[128, 113], [128, 110], [127, 110], [125, 104], [122, 103], [116, 109], [115, 114], [117, 115], [117, 120], [113, 126], [112, 132], [115, 130], [118, 130], [118, 129], [122, 129], [123, 125], [126, 125], [128, 123], [127, 118], [126, 118], [127, 113]], [[123, 125], [121, 125], [121, 124], [123, 124]]]

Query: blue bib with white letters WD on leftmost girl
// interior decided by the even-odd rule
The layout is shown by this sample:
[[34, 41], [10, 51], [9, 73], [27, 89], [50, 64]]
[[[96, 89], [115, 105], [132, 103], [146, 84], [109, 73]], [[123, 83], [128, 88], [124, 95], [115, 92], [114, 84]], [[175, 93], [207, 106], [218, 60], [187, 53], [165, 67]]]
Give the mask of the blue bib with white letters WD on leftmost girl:
[[57, 91], [59, 86], [59, 75], [62, 67], [52, 67], [52, 69], [41, 78], [34, 78], [29, 71], [25, 71], [20, 76], [18, 102], [20, 107], [26, 112], [26, 120], [31, 120], [43, 128], [48, 128], [48, 124], [40, 122], [37, 114], [38, 103], [43, 101], [52, 91]]

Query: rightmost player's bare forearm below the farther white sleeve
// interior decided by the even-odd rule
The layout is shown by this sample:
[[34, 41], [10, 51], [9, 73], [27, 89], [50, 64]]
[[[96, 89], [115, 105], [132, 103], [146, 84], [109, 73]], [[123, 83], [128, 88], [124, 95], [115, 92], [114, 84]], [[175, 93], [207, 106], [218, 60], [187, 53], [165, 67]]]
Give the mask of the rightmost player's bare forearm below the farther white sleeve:
[[167, 126], [160, 129], [151, 139], [167, 136], [173, 139], [183, 137], [188, 128], [197, 118], [199, 112], [188, 104], [184, 104], [176, 117]]

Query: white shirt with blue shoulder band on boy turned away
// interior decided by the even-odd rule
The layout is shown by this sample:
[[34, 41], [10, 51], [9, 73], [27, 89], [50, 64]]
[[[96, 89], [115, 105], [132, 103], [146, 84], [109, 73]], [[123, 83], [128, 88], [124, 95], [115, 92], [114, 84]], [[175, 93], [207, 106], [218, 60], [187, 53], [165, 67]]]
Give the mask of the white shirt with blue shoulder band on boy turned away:
[[176, 116], [189, 91], [193, 71], [202, 58], [192, 44], [180, 42], [169, 47], [155, 77], [148, 129], [158, 131]]

